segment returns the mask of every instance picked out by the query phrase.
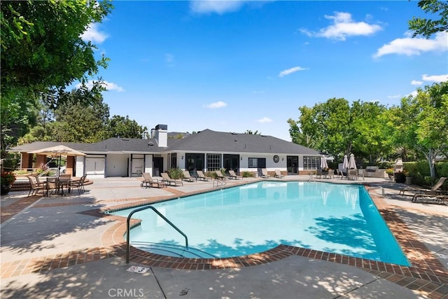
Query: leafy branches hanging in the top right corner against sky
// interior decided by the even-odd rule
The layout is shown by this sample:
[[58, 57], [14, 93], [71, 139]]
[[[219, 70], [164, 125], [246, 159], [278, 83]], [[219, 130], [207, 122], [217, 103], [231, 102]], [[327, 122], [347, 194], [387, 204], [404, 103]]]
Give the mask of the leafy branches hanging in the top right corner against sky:
[[438, 0], [419, 1], [419, 8], [425, 13], [438, 13], [440, 18], [432, 20], [427, 18], [412, 18], [408, 22], [409, 29], [414, 31], [413, 37], [417, 35], [425, 36], [427, 39], [437, 32], [448, 32], [448, 2]]

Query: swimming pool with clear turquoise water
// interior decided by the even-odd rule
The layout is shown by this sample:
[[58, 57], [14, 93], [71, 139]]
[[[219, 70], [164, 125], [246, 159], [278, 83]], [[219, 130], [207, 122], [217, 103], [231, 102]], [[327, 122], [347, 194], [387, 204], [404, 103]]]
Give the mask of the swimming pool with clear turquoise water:
[[153, 253], [228, 258], [286, 244], [410, 265], [363, 186], [262, 181], [152, 205], [189, 242], [186, 250], [183, 236], [154, 211], [139, 211], [130, 241]]

